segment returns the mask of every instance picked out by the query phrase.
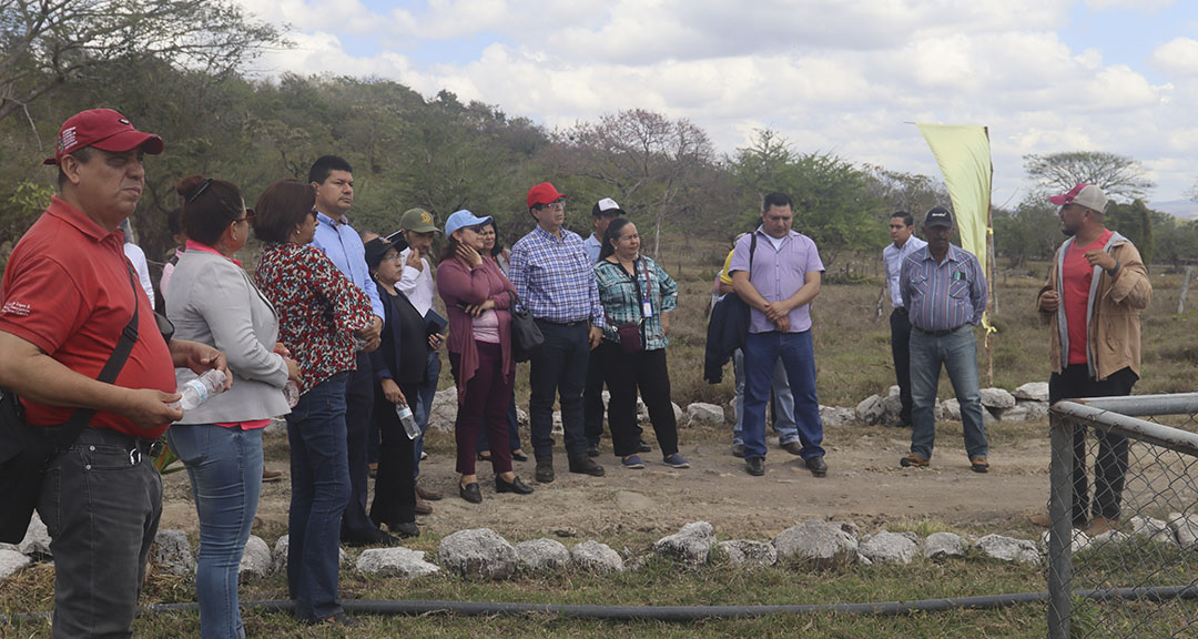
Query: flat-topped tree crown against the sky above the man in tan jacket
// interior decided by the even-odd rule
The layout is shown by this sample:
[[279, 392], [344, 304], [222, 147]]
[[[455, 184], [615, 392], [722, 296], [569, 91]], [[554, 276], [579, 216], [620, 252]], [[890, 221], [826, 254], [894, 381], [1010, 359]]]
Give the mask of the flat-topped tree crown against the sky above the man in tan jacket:
[[1064, 193], [1078, 182], [1097, 185], [1108, 197], [1133, 200], [1156, 186], [1144, 176], [1138, 159], [1105, 151], [1070, 151], [1023, 156], [1023, 170], [1034, 182], [1034, 195]]

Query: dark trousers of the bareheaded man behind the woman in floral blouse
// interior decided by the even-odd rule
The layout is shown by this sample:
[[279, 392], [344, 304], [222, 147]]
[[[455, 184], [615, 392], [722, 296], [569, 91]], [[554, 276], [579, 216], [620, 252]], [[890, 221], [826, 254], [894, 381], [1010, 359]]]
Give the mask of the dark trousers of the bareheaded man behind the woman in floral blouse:
[[350, 375], [345, 388], [345, 448], [350, 466], [350, 502], [341, 516], [341, 537], [353, 538], [374, 533], [379, 529], [367, 516], [367, 492], [370, 486], [370, 465], [367, 462], [367, 439], [374, 415], [374, 368], [370, 356], [358, 354], [358, 369]]

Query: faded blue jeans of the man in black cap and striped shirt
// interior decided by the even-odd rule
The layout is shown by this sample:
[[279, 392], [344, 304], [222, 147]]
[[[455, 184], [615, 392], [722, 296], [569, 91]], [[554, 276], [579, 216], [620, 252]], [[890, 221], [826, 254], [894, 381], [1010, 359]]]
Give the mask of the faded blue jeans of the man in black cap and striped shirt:
[[990, 453], [982, 422], [981, 393], [978, 391], [978, 343], [973, 326], [966, 324], [945, 336], [910, 330], [910, 452], [932, 458], [936, 444], [936, 388], [940, 364], [949, 372], [952, 392], [961, 404], [966, 452], [969, 458]]

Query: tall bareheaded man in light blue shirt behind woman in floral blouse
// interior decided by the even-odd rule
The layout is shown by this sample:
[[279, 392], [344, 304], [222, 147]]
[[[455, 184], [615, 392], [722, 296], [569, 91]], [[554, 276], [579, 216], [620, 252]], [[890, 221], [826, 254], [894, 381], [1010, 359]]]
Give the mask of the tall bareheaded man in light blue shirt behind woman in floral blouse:
[[382, 331], [382, 300], [367, 269], [367, 251], [346, 213], [353, 205], [353, 168], [337, 156], [323, 156], [311, 165], [308, 181], [316, 189], [316, 235], [311, 243], [357, 285], [374, 308], [374, 324], [357, 337], [362, 342], [357, 369], [345, 388], [345, 442], [349, 452], [350, 504], [341, 516], [341, 543], [349, 545], [397, 544], [399, 539], [379, 529], [367, 514], [369, 464], [367, 438], [374, 410], [374, 369], [368, 354], [379, 348]]

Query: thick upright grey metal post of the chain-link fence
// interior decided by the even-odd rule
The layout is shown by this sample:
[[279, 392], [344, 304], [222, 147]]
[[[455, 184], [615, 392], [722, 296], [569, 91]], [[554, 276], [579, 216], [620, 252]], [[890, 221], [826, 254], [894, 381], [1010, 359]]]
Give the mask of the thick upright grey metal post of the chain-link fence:
[[1073, 422], [1049, 416], [1052, 462], [1048, 468], [1048, 638], [1069, 639], [1073, 581]]

